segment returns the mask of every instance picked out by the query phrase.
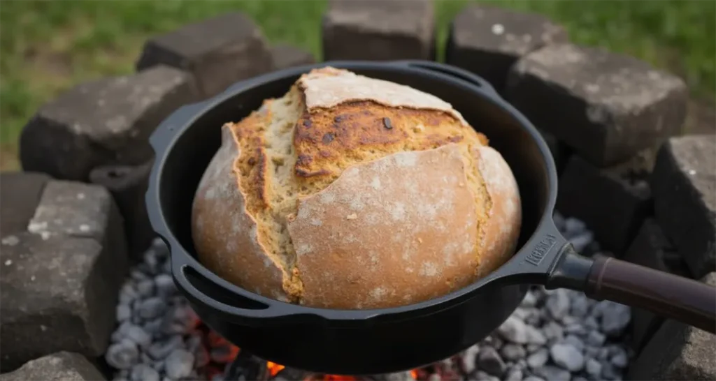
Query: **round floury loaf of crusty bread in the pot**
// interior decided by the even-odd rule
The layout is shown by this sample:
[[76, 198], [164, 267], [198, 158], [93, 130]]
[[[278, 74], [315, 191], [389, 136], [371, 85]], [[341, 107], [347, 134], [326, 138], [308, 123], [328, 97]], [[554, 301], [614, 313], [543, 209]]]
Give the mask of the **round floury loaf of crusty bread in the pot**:
[[513, 255], [520, 225], [510, 167], [450, 104], [332, 67], [222, 127], [192, 217], [223, 279], [349, 310], [465, 287]]

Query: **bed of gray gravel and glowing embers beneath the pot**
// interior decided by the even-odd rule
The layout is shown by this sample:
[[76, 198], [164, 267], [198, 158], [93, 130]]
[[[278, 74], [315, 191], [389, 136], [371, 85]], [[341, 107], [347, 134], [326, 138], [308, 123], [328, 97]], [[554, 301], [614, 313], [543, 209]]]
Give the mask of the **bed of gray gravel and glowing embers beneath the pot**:
[[[581, 252], [600, 251], [583, 222], [556, 221]], [[115, 381], [621, 380], [632, 357], [630, 317], [624, 305], [533, 287], [493, 335], [442, 362], [390, 375], [313, 375], [258, 359], [204, 325], [175, 289], [168, 249], [156, 240], [122, 286], [105, 359]]]

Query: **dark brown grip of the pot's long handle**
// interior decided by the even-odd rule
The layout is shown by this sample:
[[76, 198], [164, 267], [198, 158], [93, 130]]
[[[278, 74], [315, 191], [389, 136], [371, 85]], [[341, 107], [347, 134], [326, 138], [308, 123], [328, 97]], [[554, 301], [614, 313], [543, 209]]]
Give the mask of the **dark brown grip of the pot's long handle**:
[[716, 287], [611, 257], [595, 257], [586, 295], [640, 307], [716, 334]]

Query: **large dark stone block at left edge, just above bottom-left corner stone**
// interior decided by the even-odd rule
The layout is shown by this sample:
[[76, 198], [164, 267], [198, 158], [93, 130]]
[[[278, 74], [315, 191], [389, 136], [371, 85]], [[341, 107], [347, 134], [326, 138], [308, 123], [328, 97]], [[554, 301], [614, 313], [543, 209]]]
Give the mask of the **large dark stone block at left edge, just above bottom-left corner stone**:
[[0, 371], [59, 351], [102, 355], [122, 272], [111, 249], [91, 237], [17, 237], [0, 245]]

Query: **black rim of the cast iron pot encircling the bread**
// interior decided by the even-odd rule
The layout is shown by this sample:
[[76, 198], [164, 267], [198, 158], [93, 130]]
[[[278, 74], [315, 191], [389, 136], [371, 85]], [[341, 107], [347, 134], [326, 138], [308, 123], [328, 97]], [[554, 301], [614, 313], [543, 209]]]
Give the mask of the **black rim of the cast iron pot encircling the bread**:
[[[503, 109], [507, 112], [511, 118], [515, 119], [520, 126], [525, 129], [538, 146], [543, 159], [543, 166], [546, 168], [548, 177], [548, 193], [547, 200], [543, 210], [543, 214], [539, 219], [537, 227], [531, 233], [530, 237], [526, 239], [526, 242], [508, 259], [502, 266], [495, 269], [493, 273], [478, 279], [467, 287], [463, 287], [459, 290], [455, 290], [440, 297], [435, 297], [430, 300], [413, 303], [410, 305], [403, 305], [398, 307], [385, 307], [371, 310], [333, 310], [319, 307], [308, 307], [304, 305], [296, 305], [289, 302], [281, 302], [274, 300], [269, 297], [264, 297], [256, 293], [250, 292], [242, 287], [238, 287], [236, 284], [232, 284], [218, 275], [211, 272], [211, 270], [201, 264], [192, 254], [189, 254], [190, 250], [185, 249], [183, 244], [179, 242], [177, 237], [172, 233], [168, 226], [167, 219], [163, 212], [163, 208], [160, 206], [160, 184], [161, 174], [165, 166], [175, 142], [194, 124], [203, 117], [205, 114], [211, 112], [218, 104], [223, 104], [230, 101], [237, 94], [242, 92], [249, 92], [257, 86], [263, 86], [273, 81], [279, 81], [293, 76], [299, 76], [304, 74], [311, 69], [333, 66], [340, 69], [348, 69], [351, 71], [361, 70], [377, 70], [383, 72], [400, 71], [405, 73], [409, 72], [415, 76], [436, 76], [440, 81], [450, 83], [451, 86], [461, 86], [468, 89], [471, 93], [478, 97], [482, 97], [484, 101], [491, 102], [495, 106]], [[450, 75], [453, 74], [453, 75]], [[476, 79], [470, 83], [468, 79]], [[467, 79], [466, 79], [467, 78]], [[480, 84], [480, 86], [478, 86]], [[458, 112], [460, 110], [458, 109]], [[479, 76], [475, 76], [468, 71], [458, 69], [455, 66], [448, 64], [440, 64], [432, 61], [326, 61], [319, 64], [309, 64], [303, 66], [296, 66], [289, 69], [283, 69], [279, 71], [273, 71], [268, 74], [253, 77], [246, 81], [240, 81], [236, 84], [229, 86], [221, 94], [205, 99], [201, 102], [194, 104], [187, 104], [180, 109], [175, 110], [173, 114], [170, 114], [155, 130], [150, 137], [150, 144], [155, 151], [155, 161], [153, 164], [152, 172], [150, 174], [149, 184], [147, 187], [147, 193], [145, 201], [147, 204], [147, 213], [150, 217], [155, 232], [160, 236], [161, 239], [168, 245], [170, 249], [170, 256], [172, 259], [172, 272], [175, 277], [175, 282], [178, 283], [180, 290], [185, 292], [185, 295], [193, 302], [199, 302], [202, 304], [212, 304], [213, 308], [223, 309], [224, 314], [238, 315], [239, 317], [251, 317], [251, 319], [267, 320], [270, 318], [279, 317], [304, 317], [306, 319], [319, 318], [320, 320], [341, 320], [354, 322], [358, 320], [377, 320], [382, 317], [390, 317], [391, 320], [400, 319], [405, 315], [420, 315], [435, 312], [437, 310], [443, 310], [452, 305], [456, 305], [461, 302], [465, 302], [475, 292], [483, 288], [488, 283], [492, 283], [495, 280], [502, 279], [508, 275], [514, 274], [511, 270], [515, 266], [518, 266], [522, 262], [527, 254], [529, 254], [531, 247], [534, 246], [535, 242], [538, 242], [544, 236], [544, 231], [554, 230], [554, 222], [552, 219], [553, 209], [556, 202], [557, 195], [557, 173], [556, 166], [553, 162], [553, 157], [548, 145], [541, 137], [536, 127], [528, 121], [528, 119], [521, 114], [515, 107], [509, 104], [505, 99], [492, 89], [484, 79]], [[190, 267], [194, 272], [197, 272], [201, 276], [208, 278], [211, 282], [215, 283], [218, 287], [221, 287], [225, 292], [229, 292], [232, 295], [241, 297], [242, 299], [249, 300], [260, 305], [265, 305], [266, 309], [251, 309], [251, 308], [238, 308], [228, 306], [216, 299], [202, 300], [202, 298], [196, 298], [195, 295], [187, 290], [192, 285], [185, 282], [185, 270]], [[539, 271], [547, 274], [547, 267], [540, 267]], [[179, 276], [180, 275], [180, 276]], [[183, 281], [184, 280], [184, 281]]]

